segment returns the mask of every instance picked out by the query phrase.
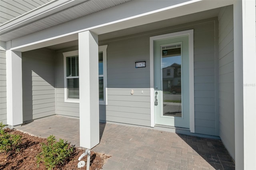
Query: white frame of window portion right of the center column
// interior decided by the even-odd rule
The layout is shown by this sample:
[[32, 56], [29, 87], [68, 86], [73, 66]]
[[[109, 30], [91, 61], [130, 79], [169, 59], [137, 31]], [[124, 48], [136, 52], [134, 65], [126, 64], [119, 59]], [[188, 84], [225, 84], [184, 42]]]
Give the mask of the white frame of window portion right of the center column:
[[104, 88], [104, 100], [99, 101], [100, 105], [108, 105], [107, 47], [108, 45], [99, 46], [99, 52], [103, 52], [103, 75], [99, 75], [99, 77], [103, 77]]

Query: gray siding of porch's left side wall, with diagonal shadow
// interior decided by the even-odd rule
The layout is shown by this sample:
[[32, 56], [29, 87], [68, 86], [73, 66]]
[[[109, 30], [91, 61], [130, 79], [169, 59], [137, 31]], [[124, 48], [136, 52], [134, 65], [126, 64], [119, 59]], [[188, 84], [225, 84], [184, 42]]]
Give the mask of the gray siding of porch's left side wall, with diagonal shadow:
[[54, 51], [22, 53], [23, 121], [55, 114]]

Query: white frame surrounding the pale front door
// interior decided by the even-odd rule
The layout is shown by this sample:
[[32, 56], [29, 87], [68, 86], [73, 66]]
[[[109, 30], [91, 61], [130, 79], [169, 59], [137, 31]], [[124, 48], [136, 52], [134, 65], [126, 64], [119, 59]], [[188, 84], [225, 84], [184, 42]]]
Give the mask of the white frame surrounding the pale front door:
[[174, 32], [170, 34], [163, 34], [159, 36], [150, 37], [150, 114], [151, 127], [155, 126], [154, 114], [154, 41], [164, 40], [167, 38], [174, 38], [178, 36], [188, 35], [189, 42], [189, 115], [190, 115], [190, 132], [195, 132], [195, 112], [194, 112], [194, 30], [186, 30], [181, 32]]

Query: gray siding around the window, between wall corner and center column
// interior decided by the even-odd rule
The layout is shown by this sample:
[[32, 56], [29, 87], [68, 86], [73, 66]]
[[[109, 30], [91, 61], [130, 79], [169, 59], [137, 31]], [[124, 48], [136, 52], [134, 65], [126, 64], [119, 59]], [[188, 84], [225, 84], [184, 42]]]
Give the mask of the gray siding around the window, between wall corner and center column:
[[64, 61], [63, 52], [77, 50], [78, 47], [69, 47], [55, 51], [56, 77], [56, 114], [79, 117], [79, 103], [64, 102]]

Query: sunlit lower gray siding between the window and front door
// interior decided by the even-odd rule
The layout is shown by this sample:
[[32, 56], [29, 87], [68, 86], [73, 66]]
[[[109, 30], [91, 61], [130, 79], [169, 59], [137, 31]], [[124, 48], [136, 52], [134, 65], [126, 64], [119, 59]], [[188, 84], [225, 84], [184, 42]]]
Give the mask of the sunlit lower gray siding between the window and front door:
[[150, 90], [109, 88], [106, 121], [150, 126]]

